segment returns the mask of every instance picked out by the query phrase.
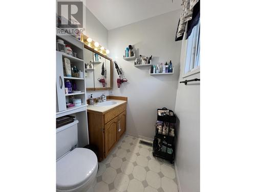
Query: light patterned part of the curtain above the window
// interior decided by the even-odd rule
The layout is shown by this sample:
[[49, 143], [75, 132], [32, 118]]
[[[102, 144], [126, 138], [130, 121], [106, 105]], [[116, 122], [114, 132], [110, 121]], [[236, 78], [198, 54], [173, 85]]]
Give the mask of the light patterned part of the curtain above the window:
[[193, 19], [193, 8], [198, 2], [199, 0], [182, 0], [182, 4], [181, 4], [182, 11], [180, 14], [180, 19], [179, 19], [179, 23], [176, 31], [176, 38], [175, 38], [176, 41], [182, 40], [183, 34], [185, 32], [185, 28], [186, 28], [186, 23], [189, 20]]

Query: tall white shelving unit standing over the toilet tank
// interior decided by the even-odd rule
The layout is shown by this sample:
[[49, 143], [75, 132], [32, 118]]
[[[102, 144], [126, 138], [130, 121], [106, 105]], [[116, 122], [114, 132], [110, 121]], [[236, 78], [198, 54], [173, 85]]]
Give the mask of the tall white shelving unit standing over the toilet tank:
[[[89, 144], [88, 121], [87, 121], [87, 98], [86, 98], [86, 77], [84, 73], [84, 44], [80, 40], [71, 35], [56, 35], [56, 39], [61, 39], [66, 45], [70, 45], [73, 52], [77, 53], [77, 57], [67, 55], [63, 52], [56, 51], [56, 118], [65, 115], [73, 115], [79, 121], [78, 126], [78, 147]], [[84, 78], [67, 77], [63, 69], [63, 58], [69, 58], [71, 65], [75, 65], [78, 71], [83, 72]], [[81, 93], [65, 94], [65, 80], [71, 80], [76, 83]], [[80, 106], [72, 106], [67, 108], [66, 102], [70, 102], [71, 98], [80, 98], [82, 104]], [[54, 129], [54, 127], [52, 127]]]

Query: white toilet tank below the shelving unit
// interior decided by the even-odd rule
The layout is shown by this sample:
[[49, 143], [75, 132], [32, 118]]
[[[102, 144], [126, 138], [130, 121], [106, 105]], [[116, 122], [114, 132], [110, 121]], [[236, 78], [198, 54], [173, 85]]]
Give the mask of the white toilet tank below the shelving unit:
[[56, 129], [56, 160], [77, 146], [77, 123], [75, 120]]

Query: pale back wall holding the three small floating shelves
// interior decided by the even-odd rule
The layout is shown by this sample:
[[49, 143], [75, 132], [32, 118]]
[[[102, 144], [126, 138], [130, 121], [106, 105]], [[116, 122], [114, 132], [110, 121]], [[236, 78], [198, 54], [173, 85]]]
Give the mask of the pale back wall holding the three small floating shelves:
[[[117, 88], [114, 68], [114, 95], [128, 97], [129, 134], [154, 138], [157, 108], [175, 109], [181, 51], [181, 42], [175, 41], [179, 16], [177, 10], [109, 31], [110, 57], [118, 62], [128, 79]], [[151, 76], [149, 67], [134, 67], [134, 61], [122, 58], [128, 45], [135, 45], [137, 55], [153, 55], [153, 64], [172, 59], [175, 74]]]

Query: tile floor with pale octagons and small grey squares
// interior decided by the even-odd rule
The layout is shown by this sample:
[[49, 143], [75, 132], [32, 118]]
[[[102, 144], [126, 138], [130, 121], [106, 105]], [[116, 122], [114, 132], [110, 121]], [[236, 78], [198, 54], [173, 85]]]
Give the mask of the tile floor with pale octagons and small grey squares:
[[99, 163], [90, 192], [178, 192], [174, 166], [152, 155], [152, 147], [124, 135]]

